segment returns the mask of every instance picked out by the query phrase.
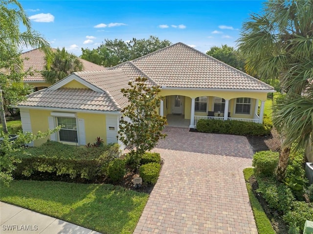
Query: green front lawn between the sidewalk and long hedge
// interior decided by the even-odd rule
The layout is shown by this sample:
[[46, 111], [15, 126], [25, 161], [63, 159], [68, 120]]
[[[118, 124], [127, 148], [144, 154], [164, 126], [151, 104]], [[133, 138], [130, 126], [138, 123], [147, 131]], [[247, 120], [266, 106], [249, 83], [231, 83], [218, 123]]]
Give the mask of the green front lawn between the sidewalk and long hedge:
[[12, 181], [0, 200], [104, 234], [131, 234], [148, 194], [108, 184]]

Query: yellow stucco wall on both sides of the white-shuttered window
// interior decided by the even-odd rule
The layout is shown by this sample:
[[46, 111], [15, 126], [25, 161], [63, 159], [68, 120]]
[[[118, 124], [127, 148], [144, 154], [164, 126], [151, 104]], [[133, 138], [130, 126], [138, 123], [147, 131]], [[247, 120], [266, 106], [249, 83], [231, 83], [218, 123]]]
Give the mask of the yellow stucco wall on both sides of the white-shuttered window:
[[[38, 131], [46, 131], [49, 128], [48, 117], [51, 116], [51, 110], [29, 110], [31, 128], [33, 133]], [[69, 112], [67, 112], [69, 113]], [[74, 113], [74, 112], [71, 112]], [[86, 134], [86, 143], [95, 142], [95, 138], [100, 136], [103, 139], [104, 143], [107, 141], [106, 133], [106, 115], [97, 114], [97, 113], [77, 113], [78, 119], [84, 119], [85, 122], [85, 134]], [[34, 146], [40, 146], [45, 143], [49, 137], [40, 139], [34, 142]]]

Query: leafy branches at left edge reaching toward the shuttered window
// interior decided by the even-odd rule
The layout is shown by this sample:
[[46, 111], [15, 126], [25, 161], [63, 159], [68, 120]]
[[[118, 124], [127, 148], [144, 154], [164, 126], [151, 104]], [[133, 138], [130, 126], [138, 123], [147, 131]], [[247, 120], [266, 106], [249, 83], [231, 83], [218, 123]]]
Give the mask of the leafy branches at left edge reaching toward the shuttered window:
[[61, 126], [55, 129], [49, 129], [46, 132], [38, 132], [34, 135], [31, 132], [20, 133], [15, 141], [11, 141], [8, 134], [4, 134], [3, 140], [0, 141], [0, 181], [5, 185], [8, 185], [10, 181], [13, 180], [12, 171], [16, 169], [15, 164], [20, 163], [16, 159], [16, 155], [26, 154], [25, 148], [26, 144], [34, 140], [44, 138], [53, 132], [59, 131]]

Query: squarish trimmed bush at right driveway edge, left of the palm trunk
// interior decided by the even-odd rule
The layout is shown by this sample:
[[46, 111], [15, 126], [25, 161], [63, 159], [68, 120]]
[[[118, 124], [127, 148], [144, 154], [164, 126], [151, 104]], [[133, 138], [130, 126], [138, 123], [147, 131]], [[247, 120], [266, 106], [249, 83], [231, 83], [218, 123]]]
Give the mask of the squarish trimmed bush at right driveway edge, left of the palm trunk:
[[259, 176], [272, 176], [278, 163], [279, 153], [268, 151], [256, 152], [253, 155], [254, 173]]

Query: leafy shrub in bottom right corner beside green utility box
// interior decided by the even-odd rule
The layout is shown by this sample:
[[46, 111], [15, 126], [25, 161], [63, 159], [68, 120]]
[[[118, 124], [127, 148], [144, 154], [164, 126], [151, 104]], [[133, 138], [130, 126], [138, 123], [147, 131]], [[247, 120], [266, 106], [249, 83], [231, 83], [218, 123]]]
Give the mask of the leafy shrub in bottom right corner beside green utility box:
[[290, 226], [295, 224], [300, 229], [300, 233], [302, 233], [305, 221], [313, 221], [313, 203], [293, 201], [291, 211], [286, 213], [283, 218]]

